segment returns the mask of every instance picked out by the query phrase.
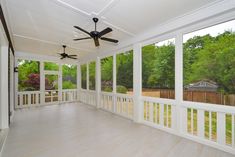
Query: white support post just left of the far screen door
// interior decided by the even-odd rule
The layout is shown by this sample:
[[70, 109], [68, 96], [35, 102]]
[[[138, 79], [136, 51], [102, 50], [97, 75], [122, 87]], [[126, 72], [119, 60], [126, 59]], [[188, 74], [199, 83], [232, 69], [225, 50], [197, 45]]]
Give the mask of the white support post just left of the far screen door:
[[40, 61], [40, 104], [45, 104], [45, 75], [43, 61]]

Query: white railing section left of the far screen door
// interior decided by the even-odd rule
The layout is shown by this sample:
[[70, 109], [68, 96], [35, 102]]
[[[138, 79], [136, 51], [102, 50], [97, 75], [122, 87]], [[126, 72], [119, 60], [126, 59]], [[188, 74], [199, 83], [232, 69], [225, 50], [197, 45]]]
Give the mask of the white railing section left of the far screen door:
[[15, 108], [25, 108], [30, 106], [39, 106], [40, 91], [18, 92]]

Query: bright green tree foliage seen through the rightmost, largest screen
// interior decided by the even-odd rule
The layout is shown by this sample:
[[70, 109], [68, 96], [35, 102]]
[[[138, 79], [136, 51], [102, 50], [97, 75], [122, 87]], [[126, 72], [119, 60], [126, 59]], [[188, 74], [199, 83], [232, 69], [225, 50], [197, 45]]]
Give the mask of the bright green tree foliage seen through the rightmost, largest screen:
[[235, 93], [235, 33], [196, 36], [184, 44], [184, 84], [208, 79]]

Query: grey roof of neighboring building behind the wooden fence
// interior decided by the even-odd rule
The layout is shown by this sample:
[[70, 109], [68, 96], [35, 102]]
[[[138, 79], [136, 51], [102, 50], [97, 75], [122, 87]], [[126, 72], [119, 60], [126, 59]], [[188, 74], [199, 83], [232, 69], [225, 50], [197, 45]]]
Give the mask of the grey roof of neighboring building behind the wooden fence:
[[211, 80], [201, 80], [195, 83], [186, 85], [184, 88], [189, 91], [209, 91], [216, 92], [218, 89], [218, 84]]

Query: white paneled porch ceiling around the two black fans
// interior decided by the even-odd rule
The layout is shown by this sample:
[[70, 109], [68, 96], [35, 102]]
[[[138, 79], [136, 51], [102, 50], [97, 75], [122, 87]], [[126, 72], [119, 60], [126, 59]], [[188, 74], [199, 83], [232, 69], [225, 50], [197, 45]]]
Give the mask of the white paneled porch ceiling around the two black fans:
[[101, 41], [96, 48], [92, 40], [72, 40], [86, 36], [74, 25], [94, 29], [92, 17], [100, 18], [99, 31], [113, 28], [106, 37], [123, 42], [213, 1], [216, 0], [7, 0], [6, 7], [16, 51], [56, 56], [62, 51], [61, 45], [66, 44], [69, 53], [82, 58], [117, 46]]

